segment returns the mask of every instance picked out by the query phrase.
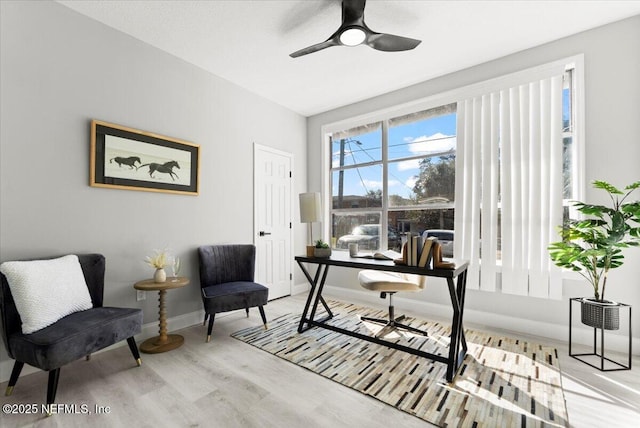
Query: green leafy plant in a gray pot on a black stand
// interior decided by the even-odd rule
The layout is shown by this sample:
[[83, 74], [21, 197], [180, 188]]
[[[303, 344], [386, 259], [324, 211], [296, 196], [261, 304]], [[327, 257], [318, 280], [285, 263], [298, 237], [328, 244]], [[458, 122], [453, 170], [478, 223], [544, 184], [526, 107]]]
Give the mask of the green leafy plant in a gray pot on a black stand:
[[579, 272], [593, 287], [593, 299], [581, 300], [582, 323], [602, 328], [604, 318], [605, 329], [617, 330], [619, 308], [605, 300], [607, 276], [622, 266], [624, 248], [640, 245], [640, 201], [627, 202], [640, 181], [623, 190], [605, 181], [594, 181], [593, 187], [607, 192], [611, 206], [574, 202], [584, 218], [559, 228], [562, 240], [549, 245], [549, 255], [557, 266]]

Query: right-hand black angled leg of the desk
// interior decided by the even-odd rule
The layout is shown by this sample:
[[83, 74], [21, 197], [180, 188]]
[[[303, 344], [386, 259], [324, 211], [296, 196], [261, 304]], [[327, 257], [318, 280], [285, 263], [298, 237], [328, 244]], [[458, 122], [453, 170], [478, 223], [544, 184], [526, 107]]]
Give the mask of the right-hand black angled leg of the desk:
[[[447, 278], [449, 286], [449, 296], [453, 308], [453, 320], [451, 323], [451, 343], [449, 344], [449, 358], [447, 362], [447, 382], [452, 382], [458, 369], [462, 365], [467, 354], [467, 340], [464, 336], [464, 326], [462, 315], [464, 313], [464, 298], [467, 288], [467, 273], [458, 275], [457, 286], [454, 286], [453, 279]], [[460, 349], [462, 347], [462, 350]]]

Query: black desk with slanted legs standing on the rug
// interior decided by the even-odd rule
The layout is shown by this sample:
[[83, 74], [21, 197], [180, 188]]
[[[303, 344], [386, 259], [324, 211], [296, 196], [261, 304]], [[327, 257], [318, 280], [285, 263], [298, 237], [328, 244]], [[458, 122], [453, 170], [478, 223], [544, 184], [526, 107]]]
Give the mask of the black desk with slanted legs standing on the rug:
[[[377, 343], [379, 345], [388, 346], [390, 348], [399, 349], [401, 351], [409, 352], [421, 357], [430, 358], [434, 361], [445, 363], [447, 365], [447, 381], [453, 381], [458, 369], [462, 365], [465, 355], [467, 354], [467, 341], [464, 337], [464, 329], [462, 326], [462, 315], [464, 312], [464, 296], [467, 286], [467, 262], [456, 261], [455, 269], [424, 269], [415, 266], [396, 265], [391, 260], [374, 260], [363, 258], [351, 258], [346, 251], [334, 251], [329, 258], [319, 257], [305, 257], [297, 256], [295, 258], [298, 266], [302, 269], [302, 272], [307, 277], [309, 284], [311, 284], [311, 290], [309, 291], [309, 297], [304, 306], [304, 312], [300, 318], [300, 324], [298, 326], [298, 332], [302, 333], [305, 330], [310, 329], [313, 326], [327, 328], [329, 330], [337, 331], [347, 334], [349, 336], [357, 337], [362, 340]], [[309, 274], [303, 263], [317, 264], [318, 268], [313, 277]], [[329, 272], [329, 266], [340, 266], [354, 269], [374, 269], [385, 270], [391, 272], [401, 272], [417, 275], [435, 276], [440, 278], [446, 278], [449, 288], [449, 296], [451, 297], [451, 306], [453, 308], [453, 319], [451, 322], [451, 342], [449, 345], [449, 355], [444, 357], [442, 355], [436, 355], [429, 352], [421, 351], [419, 349], [411, 348], [408, 346], [400, 345], [395, 342], [390, 342], [381, 338], [364, 335], [358, 332], [346, 330], [340, 327], [336, 327], [327, 323], [326, 321], [333, 318], [331, 309], [322, 297], [322, 289], [327, 279], [327, 273]], [[457, 282], [454, 283], [454, 279], [457, 278]], [[315, 319], [318, 304], [322, 304], [327, 312], [327, 316], [322, 319]]]

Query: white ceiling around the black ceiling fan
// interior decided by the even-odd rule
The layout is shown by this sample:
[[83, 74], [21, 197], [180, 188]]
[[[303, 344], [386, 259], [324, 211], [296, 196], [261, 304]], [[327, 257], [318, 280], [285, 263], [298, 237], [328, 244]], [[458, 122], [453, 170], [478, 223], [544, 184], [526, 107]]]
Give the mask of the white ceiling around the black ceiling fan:
[[328, 48], [293, 59], [341, 23], [339, 0], [59, 3], [304, 116], [640, 14], [640, 1], [369, 0], [367, 25], [414, 50]]

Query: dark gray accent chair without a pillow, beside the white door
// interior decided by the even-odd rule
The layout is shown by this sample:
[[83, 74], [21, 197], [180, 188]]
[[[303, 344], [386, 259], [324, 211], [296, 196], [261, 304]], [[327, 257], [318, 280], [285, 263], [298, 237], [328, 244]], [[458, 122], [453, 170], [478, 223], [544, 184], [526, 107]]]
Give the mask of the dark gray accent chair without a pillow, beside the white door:
[[254, 282], [256, 247], [252, 244], [207, 245], [198, 248], [200, 287], [204, 304], [204, 322], [209, 319], [207, 342], [215, 315], [220, 312], [258, 307], [264, 328], [267, 317], [263, 306], [269, 289]]

